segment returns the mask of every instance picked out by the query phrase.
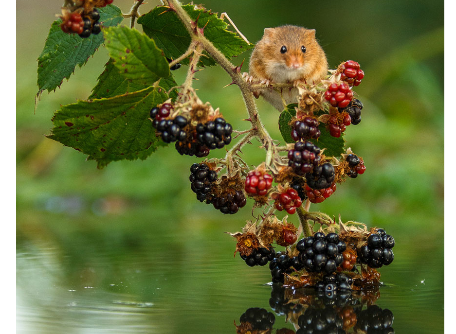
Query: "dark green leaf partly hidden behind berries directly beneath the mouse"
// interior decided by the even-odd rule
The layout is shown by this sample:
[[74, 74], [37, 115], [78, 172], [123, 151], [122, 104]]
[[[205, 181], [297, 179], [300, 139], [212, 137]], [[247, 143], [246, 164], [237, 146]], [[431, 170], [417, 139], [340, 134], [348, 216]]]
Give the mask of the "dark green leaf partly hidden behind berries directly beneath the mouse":
[[[279, 116], [279, 130], [280, 133], [282, 134], [282, 138], [285, 140], [287, 143], [294, 143], [291, 132], [292, 132], [292, 127], [290, 126], [290, 121], [292, 120], [293, 117], [296, 116], [296, 109], [297, 104], [291, 104], [287, 105], [286, 108], [280, 113]], [[315, 145], [320, 147], [320, 149], [326, 148], [324, 154], [327, 157], [339, 157], [342, 153], [345, 153], [345, 140], [343, 136], [340, 136], [339, 138], [332, 137], [329, 134], [328, 129], [326, 128], [325, 124], [320, 123], [318, 126], [320, 129], [321, 135], [318, 138], [318, 140], [310, 140], [313, 142]]]

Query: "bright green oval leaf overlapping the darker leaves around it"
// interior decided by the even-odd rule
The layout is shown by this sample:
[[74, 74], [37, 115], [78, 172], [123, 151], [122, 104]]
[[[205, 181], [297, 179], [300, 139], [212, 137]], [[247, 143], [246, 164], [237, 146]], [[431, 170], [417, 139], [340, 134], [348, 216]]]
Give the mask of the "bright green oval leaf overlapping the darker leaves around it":
[[136, 29], [113, 27], [104, 30], [105, 46], [114, 66], [132, 82], [152, 86], [170, 75], [168, 61], [155, 42]]

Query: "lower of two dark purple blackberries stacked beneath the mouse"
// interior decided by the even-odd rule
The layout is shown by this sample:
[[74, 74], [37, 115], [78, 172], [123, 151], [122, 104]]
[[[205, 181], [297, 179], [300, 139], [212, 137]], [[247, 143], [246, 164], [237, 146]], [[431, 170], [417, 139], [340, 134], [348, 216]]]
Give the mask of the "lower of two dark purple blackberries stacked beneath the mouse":
[[312, 172], [320, 163], [320, 148], [310, 141], [297, 141], [288, 151], [288, 165], [297, 175]]

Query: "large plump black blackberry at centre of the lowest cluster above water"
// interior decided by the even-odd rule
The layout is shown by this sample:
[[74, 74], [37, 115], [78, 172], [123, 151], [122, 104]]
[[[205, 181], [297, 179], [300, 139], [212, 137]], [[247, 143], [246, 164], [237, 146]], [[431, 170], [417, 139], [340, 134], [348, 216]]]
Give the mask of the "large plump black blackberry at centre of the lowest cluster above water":
[[333, 273], [342, 264], [342, 252], [347, 245], [336, 233], [317, 232], [313, 236], [301, 239], [296, 249], [299, 251], [299, 262], [308, 272]]

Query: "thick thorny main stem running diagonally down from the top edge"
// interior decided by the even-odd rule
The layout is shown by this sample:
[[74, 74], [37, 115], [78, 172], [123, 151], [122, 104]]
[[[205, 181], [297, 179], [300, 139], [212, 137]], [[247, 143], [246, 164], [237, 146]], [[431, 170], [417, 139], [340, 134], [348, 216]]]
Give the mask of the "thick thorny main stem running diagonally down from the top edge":
[[[258, 110], [255, 105], [254, 95], [250, 90], [250, 85], [247, 84], [240, 73], [240, 68], [234, 66], [214, 45], [204, 37], [204, 28], [198, 28], [196, 23], [188, 16], [188, 14], [182, 9], [180, 3], [177, 0], [168, 0], [169, 7], [174, 10], [177, 16], [181, 19], [183, 25], [189, 32], [194, 42], [201, 43], [202, 48], [209, 53], [209, 55], [215, 59], [217, 63], [231, 76], [232, 83], [236, 84], [241, 93], [244, 103], [249, 113], [249, 121], [252, 123], [253, 134], [262, 143], [262, 146], [267, 150], [267, 160], [271, 160], [274, 152], [274, 144], [271, 136], [268, 134], [266, 129], [261, 123], [258, 116]], [[252, 136], [251, 136], [252, 137]], [[236, 146], [235, 146], [236, 147]], [[233, 147], [231, 151], [235, 148]], [[228, 153], [230, 153], [228, 152]], [[234, 151], [236, 152], [236, 151]]]

